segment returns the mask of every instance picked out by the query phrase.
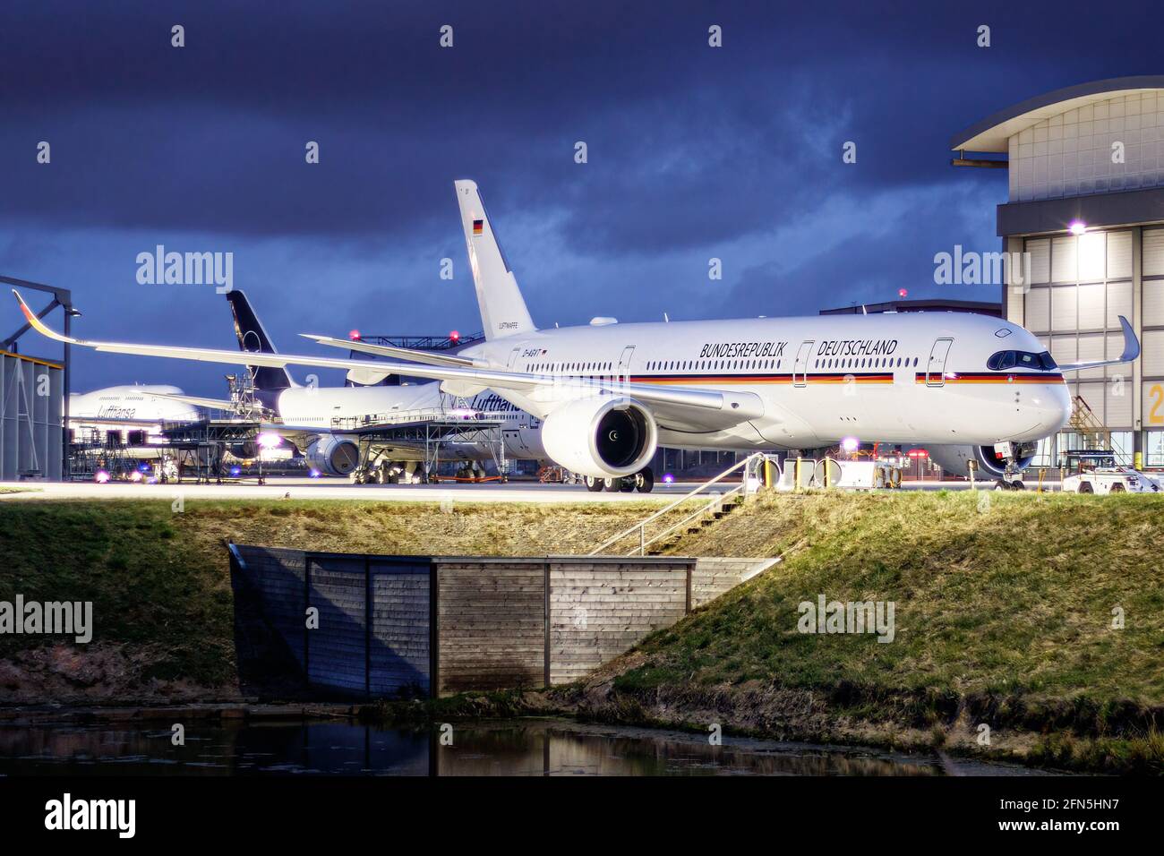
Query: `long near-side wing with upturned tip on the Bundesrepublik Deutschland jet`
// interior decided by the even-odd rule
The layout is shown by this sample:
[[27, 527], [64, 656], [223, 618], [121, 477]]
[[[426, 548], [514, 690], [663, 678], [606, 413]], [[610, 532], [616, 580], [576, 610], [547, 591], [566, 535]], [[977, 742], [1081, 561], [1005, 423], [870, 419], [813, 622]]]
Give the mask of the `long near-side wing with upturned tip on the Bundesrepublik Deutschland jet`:
[[218, 348], [190, 348], [169, 345], [136, 345], [129, 342], [92, 341], [65, 337], [50, 328], [28, 307], [20, 293], [13, 289], [29, 325], [49, 339], [79, 347], [93, 348], [114, 354], [137, 356], [164, 356], [175, 360], [201, 362], [225, 362], [232, 366], [313, 366], [336, 368], [345, 372], [363, 368], [372, 372], [390, 372], [414, 377], [431, 377], [442, 382], [442, 388], [457, 395], [470, 395], [484, 389], [506, 389], [527, 395], [541, 402], [546, 409], [554, 403], [591, 396], [632, 396], [652, 404], [660, 416], [693, 430], [715, 431], [732, 427], [764, 415], [764, 403], [753, 392], [736, 392], [691, 387], [658, 387], [651, 383], [629, 381], [611, 382], [598, 377], [555, 377], [551, 375], [505, 372], [492, 368], [460, 366], [421, 366], [417, 363], [392, 363], [384, 360], [349, 360], [333, 356], [308, 356], [297, 354], [263, 354], [256, 352], [222, 351]]

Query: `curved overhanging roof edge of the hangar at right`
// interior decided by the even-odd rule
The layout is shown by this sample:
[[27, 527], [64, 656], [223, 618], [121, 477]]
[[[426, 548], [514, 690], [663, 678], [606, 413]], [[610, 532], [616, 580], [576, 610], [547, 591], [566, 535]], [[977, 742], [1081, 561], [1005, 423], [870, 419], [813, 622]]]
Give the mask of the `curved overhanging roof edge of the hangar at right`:
[[1021, 130], [1044, 119], [1057, 116], [1077, 107], [1103, 101], [1115, 95], [1164, 91], [1164, 75], [1113, 77], [1055, 90], [1000, 109], [965, 130], [954, 134], [950, 148], [954, 151], [1007, 151], [1008, 140]]

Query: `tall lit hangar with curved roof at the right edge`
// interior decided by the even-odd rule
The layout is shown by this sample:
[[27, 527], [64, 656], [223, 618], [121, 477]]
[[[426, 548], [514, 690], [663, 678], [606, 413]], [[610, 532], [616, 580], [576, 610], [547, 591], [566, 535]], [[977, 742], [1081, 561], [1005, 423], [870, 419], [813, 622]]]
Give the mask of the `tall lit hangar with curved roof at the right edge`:
[[[1140, 359], [1069, 383], [1110, 430], [1121, 462], [1164, 466], [1164, 76], [1037, 95], [956, 134], [950, 147], [957, 165], [1008, 167], [998, 234], [1009, 257], [1029, 256], [1008, 269], [1006, 318], [1059, 362], [1117, 358], [1119, 316], [1131, 323]], [[1041, 444], [1036, 462], [1053, 466], [1079, 443], [1069, 426]]]

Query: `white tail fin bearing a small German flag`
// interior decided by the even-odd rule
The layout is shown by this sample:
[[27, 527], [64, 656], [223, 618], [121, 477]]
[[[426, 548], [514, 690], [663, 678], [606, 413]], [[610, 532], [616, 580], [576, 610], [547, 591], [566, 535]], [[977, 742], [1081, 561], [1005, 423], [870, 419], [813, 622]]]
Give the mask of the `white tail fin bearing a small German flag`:
[[469, 268], [477, 290], [477, 306], [485, 339], [502, 339], [518, 333], [532, 333], [537, 327], [525, 307], [517, 278], [497, 241], [494, 224], [485, 212], [476, 182], [459, 181], [456, 201], [461, 207], [461, 227], [469, 250]]

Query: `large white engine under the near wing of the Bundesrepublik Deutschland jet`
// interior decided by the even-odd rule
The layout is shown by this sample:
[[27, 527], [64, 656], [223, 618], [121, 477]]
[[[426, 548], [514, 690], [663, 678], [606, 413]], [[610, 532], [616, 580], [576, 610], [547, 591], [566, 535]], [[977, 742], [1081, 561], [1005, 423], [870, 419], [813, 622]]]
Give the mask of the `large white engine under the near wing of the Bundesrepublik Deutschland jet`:
[[658, 443], [654, 417], [633, 398], [567, 402], [541, 425], [541, 445], [555, 464], [596, 479], [633, 475]]

